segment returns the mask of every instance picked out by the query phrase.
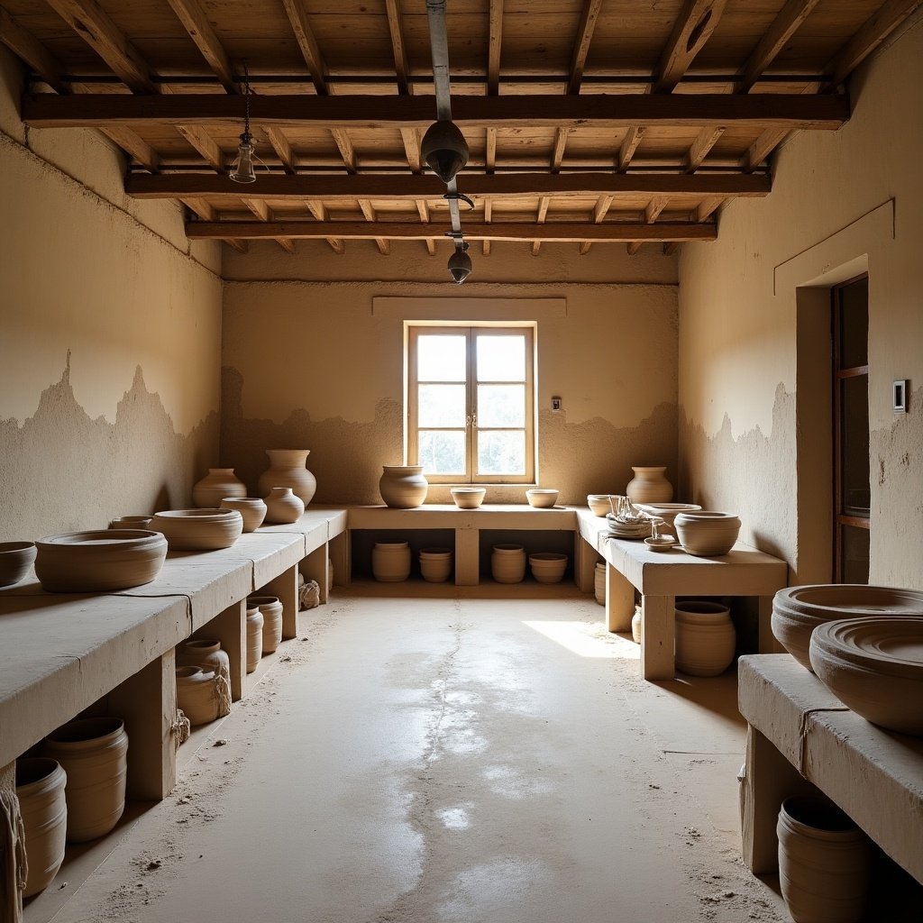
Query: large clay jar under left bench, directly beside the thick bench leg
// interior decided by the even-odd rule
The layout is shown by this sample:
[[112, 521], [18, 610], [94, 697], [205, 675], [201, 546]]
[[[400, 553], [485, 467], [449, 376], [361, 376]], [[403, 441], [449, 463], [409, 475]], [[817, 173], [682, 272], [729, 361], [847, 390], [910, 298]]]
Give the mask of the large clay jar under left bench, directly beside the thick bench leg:
[[45, 756], [67, 773], [67, 840], [113, 830], [125, 811], [128, 736], [121, 718], [78, 718], [45, 737]]

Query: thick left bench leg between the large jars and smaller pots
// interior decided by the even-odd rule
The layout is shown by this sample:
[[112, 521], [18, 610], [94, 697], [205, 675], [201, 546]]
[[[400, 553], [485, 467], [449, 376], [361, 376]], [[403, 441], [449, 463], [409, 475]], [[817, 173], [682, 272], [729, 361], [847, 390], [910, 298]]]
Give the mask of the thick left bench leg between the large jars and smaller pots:
[[109, 693], [128, 735], [126, 797], [160, 801], [176, 785], [176, 658], [171, 648]]

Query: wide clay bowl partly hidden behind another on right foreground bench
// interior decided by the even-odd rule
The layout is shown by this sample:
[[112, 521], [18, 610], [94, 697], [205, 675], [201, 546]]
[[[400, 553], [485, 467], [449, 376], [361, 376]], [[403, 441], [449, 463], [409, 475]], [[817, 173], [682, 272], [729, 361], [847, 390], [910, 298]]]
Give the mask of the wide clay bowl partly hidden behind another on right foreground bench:
[[811, 670], [811, 632], [825, 622], [869, 616], [923, 616], [923, 591], [864, 583], [790, 586], [773, 597], [770, 622], [776, 641]]

